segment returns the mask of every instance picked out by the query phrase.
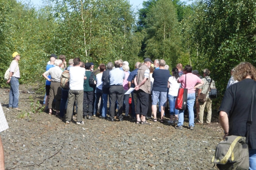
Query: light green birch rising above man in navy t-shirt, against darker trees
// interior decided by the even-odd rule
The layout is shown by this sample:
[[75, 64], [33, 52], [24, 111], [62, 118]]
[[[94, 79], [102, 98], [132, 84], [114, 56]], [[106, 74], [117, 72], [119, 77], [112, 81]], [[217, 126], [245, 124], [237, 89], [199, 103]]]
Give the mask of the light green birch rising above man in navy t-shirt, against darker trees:
[[180, 36], [176, 9], [170, 0], [158, 0], [146, 18], [146, 53], [151, 59], [164, 59], [171, 66], [176, 65]]

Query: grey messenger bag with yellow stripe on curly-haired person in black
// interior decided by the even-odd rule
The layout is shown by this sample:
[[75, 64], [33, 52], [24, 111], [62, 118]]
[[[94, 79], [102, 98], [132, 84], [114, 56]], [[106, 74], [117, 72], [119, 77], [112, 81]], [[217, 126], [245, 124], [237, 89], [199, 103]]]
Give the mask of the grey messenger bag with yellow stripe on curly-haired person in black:
[[252, 103], [250, 106], [248, 120], [246, 122], [247, 131], [246, 137], [227, 136], [223, 141], [220, 141], [216, 147], [215, 154], [211, 162], [217, 164], [220, 170], [248, 170], [249, 169], [249, 150], [248, 137], [250, 126], [252, 125], [252, 106], [255, 93], [254, 84], [252, 88]]

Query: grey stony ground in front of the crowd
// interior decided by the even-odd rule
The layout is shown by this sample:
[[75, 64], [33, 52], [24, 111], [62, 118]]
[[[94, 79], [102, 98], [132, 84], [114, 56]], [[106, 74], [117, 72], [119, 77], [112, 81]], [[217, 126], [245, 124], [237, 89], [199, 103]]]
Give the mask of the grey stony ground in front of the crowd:
[[188, 120], [182, 130], [168, 123], [135, 125], [98, 117], [86, 120], [84, 125], [66, 125], [44, 112], [30, 112], [24, 117], [31, 111], [30, 98], [34, 104], [43, 98], [32, 92], [20, 86], [19, 107], [23, 111], [18, 112], [8, 110], [8, 89], [0, 89], [0, 102], [10, 127], [1, 133], [6, 169], [217, 169], [212, 168], [210, 160], [223, 135], [219, 123], [196, 125], [193, 131], [187, 128]]

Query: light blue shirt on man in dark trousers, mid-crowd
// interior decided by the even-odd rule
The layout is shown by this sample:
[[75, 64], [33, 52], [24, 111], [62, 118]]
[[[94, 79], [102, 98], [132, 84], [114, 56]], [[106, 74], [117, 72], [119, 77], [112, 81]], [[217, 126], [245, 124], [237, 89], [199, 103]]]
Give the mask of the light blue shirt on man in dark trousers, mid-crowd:
[[123, 85], [124, 78], [125, 78], [124, 71], [120, 70], [120, 68], [115, 68], [114, 70], [111, 70], [109, 72], [110, 86]]

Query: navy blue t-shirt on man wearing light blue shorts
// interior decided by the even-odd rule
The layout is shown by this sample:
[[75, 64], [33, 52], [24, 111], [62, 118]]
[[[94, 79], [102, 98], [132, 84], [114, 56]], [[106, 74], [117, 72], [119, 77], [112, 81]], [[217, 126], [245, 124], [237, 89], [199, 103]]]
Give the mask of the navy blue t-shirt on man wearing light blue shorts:
[[153, 89], [156, 92], [167, 92], [167, 85], [170, 71], [165, 69], [154, 70], [152, 77], [154, 78]]

